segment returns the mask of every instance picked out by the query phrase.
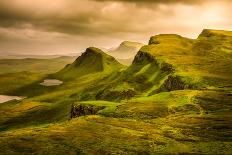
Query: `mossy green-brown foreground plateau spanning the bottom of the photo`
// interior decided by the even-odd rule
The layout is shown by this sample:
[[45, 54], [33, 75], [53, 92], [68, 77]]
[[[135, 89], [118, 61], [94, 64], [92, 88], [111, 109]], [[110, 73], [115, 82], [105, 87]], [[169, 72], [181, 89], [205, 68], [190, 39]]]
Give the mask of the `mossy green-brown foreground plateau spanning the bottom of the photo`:
[[[221, 102], [223, 94], [216, 94], [219, 98], [211, 102]], [[215, 97], [216, 94], [212, 91], [160, 93], [127, 101], [111, 117], [85, 116], [62, 123], [2, 132], [0, 142], [2, 150], [8, 154], [11, 151], [229, 154], [232, 150], [228, 109], [220, 108], [221, 112], [215, 115], [210, 111], [219, 107], [202, 109], [204, 102], [198, 103], [195, 97], [192, 98], [197, 95], [207, 101], [210, 95]], [[96, 104], [95, 101], [93, 104]]]

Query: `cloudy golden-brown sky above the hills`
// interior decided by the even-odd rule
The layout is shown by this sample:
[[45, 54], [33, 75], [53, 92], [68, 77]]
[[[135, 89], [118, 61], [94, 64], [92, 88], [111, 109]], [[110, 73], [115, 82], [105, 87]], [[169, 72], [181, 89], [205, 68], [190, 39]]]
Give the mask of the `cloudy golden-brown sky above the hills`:
[[150, 36], [232, 30], [232, 0], [0, 0], [0, 54], [80, 53]]

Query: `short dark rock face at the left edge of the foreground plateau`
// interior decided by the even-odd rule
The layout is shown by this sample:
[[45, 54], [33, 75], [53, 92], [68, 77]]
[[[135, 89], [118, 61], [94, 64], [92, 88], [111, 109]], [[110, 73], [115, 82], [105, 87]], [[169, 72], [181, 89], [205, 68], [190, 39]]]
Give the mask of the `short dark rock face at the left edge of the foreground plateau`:
[[95, 115], [99, 110], [104, 108], [104, 106], [94, 106], [89, 104], [73, 104], [71, 107], [71, 118], [85, 115]]

